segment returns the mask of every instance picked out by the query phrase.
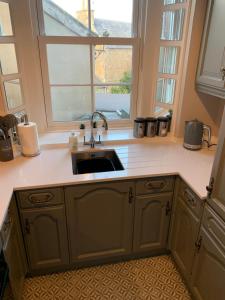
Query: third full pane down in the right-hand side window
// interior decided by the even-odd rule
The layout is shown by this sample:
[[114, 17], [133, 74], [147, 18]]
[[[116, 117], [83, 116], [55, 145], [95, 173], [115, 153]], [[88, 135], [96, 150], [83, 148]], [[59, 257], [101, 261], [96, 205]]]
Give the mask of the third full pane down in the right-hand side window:
[[157, 81], [156, 100], [161, 103], [173, 104], [174, 90], [174, 79], [159, 78]]

